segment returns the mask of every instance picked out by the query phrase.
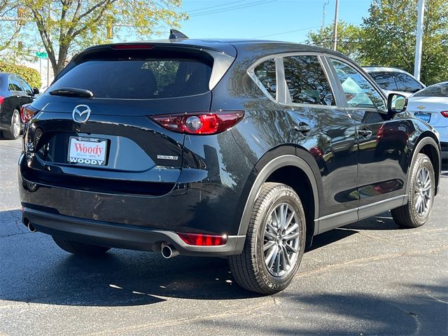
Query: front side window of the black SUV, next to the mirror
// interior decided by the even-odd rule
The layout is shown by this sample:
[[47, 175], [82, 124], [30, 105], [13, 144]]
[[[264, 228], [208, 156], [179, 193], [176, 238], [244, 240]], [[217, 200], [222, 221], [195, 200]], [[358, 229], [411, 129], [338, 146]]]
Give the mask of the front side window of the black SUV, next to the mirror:
[[337, 59], [331, 59], [331, 63], [335, 66], [337, 77], [341, 82], [349, 107], [386, 110], [381, 94], [358, 70]]

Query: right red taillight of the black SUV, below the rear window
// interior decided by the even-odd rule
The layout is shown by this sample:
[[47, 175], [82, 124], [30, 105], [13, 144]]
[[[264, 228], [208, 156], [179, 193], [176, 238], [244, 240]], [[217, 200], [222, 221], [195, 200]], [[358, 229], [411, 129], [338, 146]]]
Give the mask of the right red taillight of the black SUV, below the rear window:
[[171, 114], [151, 118], [173, 132], [218, 134], [236, 125], [243, 117], [243, 111], [219, 111]]

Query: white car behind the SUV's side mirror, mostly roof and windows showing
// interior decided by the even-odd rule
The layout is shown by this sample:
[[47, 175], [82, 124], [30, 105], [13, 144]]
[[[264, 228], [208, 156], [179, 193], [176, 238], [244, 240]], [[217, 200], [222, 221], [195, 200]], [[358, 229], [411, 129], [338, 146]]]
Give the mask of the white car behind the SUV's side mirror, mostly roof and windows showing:
[[414, 92], [426, 87], [420, 80], [401, 69], [386, 66], [364, 66], [363, 69], [377, 82], [387, 96], [392, 92], [397, 92], [410, 97]]

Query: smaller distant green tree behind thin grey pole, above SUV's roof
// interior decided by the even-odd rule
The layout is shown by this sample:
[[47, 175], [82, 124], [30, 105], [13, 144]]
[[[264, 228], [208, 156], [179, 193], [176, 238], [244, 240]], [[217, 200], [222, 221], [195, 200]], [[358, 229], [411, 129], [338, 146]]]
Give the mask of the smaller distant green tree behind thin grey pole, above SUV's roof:
[[[337, 51], [349, 56], [356, 62], [362, 62], [360, 55], [360, 41], [363, 38], [363, 29], [344, 21], [337, 24]], [[332, 48], [333, 26], [328, 25], [317, 32], [309, 32], [307, 43], [323, 48]]]

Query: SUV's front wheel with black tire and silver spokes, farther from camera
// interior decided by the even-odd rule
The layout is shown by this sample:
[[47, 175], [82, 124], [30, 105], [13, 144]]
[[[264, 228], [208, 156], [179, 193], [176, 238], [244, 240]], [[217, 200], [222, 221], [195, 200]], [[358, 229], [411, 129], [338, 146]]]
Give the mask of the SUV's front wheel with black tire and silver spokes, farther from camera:
[[[421, 192], [424, 188], [420, 188], [419, 186], [419, 174], [422, 169], [427, 169], [427, 172], [429, 172], [428, 183], [430, 186], [430, 190], [427, 194], [428, 207], [424, 212], [420, 212], [419, 209], [417, 209], [419, 205], [419, 197], [423, 197], [421, 198], [422, 200], [427, 198], [426, 193]], [[391, 210], [393, 221], [403, 228], [419, 228], [419, 226], [426, 223], [430, 216], [434, 201], [435, 175], [433, 164], [428, 156], [419, 153], [412, 166], [411, 174], [411, 183], [409, 190], [407, 190], [407, 195], [409, 196], [407, 204]]]

